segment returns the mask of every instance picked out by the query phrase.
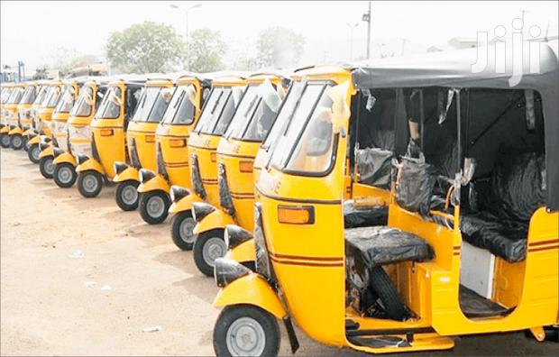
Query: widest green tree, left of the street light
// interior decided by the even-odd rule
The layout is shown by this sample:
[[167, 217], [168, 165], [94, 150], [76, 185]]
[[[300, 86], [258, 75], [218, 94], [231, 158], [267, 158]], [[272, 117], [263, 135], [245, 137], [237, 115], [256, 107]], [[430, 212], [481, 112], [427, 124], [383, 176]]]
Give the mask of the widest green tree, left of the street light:
[[113, 32], [106, 43], [110, 63], [124, 72], [164, 72], [179, 67], [184, 54], [181, 37], [163, 23], [136, 23]]

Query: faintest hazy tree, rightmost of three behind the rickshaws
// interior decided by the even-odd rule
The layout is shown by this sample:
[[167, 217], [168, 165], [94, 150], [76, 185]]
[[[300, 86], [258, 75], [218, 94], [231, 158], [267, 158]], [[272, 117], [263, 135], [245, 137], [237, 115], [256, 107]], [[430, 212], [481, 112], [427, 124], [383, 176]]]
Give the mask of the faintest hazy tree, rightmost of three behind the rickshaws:
[[261, 66], [279, 69], [297, 65], [304, 46], [303, 35], [284, 27], [269, 27], [256, 42]]

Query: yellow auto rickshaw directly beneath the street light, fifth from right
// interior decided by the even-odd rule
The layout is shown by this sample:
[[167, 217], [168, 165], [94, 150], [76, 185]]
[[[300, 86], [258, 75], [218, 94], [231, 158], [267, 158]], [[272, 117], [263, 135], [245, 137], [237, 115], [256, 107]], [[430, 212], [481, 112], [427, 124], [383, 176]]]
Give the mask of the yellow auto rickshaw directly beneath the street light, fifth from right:
[[190, 186], [188, 169], [188, 136], [202, 112], [204, 95], [211, 80], [195, 74], [180, 77], [170, 104], [155, 132], [157, 173], [140, 169], [142, 183], [140, 215], [148, 224], [160, 224], [167, 218], [170, 186]]

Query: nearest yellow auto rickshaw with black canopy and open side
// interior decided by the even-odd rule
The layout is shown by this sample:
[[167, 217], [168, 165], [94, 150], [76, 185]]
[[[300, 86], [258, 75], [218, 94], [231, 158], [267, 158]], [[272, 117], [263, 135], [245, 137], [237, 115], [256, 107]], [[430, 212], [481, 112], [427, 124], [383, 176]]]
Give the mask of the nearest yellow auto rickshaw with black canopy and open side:
[[[281, 136], [256, 187], [256, 272], [215, 261], [218, 356], [277, 355], [276, 318], [293, 352], [291, 318], [316, 341], [373, 353], [556, 333], [557, 50], [541, 44], [539, 73], [522, 78], [494, 58], [472, 74], [476, 56], [383, 59], [353, 66], [353, 80], [307, 82], [307, 119]], [[388, 226], [344, 229], [355, 96], [394, 116]]]

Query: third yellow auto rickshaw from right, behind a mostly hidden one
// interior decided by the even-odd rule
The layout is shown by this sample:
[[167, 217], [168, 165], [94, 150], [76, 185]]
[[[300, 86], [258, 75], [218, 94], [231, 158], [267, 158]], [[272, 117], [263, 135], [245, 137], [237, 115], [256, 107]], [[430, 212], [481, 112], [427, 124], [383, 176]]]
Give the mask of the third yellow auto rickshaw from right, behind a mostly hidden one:
[[[239, 224], [252, 232], [253, 161], [276, 120], [289, 79], [278, 74], [255, 74], [246, 83], [243, 98], [217, 146], [219, 208], [203, 202], [193, 205], [197, 219], [193, 231], [196, 234], [194, 261], [198, 270], [207, 276], [214, 274], [214, 260], [219, 257], [209, 254], [211, 250], [206, 244], [215, 244], [216, 239], [225, 243], [225, 225]], [[182, 244], [184, 240], [176, 242]], [[254, 261], [253, 253], [246, 261]]]

